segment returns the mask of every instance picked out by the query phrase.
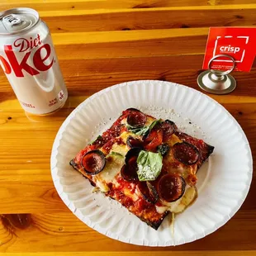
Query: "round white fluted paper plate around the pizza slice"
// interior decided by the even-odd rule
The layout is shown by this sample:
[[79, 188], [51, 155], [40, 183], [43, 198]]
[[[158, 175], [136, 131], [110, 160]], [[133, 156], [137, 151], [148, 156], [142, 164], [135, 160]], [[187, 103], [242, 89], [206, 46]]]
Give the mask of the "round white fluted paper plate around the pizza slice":
[[[133, 216], [69, 166], [92, 138], [111, 126], [128, 107], [175, 121], [178, 127], [214, 145], [214, 154], [198, 171], [197, 201], [159, 230]], [[192, 123], [190, 123], [192, 122]], [[130, 244], [168, 246], [200, 239], [224, 225], [238, 211], [252, 179], [252, 156], [243, 130], [224, 107], [201, 92], [175, 83], [135, 81], [97, 92], [64, 121], [55, 138], [51, 173], [59, 196], [86, 225]]]

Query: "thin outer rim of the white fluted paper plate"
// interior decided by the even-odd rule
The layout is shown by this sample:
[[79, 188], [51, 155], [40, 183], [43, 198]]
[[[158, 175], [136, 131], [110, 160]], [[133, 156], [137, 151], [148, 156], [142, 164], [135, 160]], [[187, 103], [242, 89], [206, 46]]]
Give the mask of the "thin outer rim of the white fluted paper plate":
[[[79, 209], [73, 204], [73, 201], [69, 200], [68, 195], [63, 191], [63, 186], [60, 182], [60, 178], [58, 175], [57, 156], [59, 154], [59, 152], [58, 152], [59, 144], [63, 137], [64, 131], [66, 130], [67, 126], [69, 126], [69, 123], [73, 120], [73, 118], [75, 118], [76, 114], [79, 111], [81, 111], [84, 107], [86, 107], [89, 102], [92, 102], [94, 99], [96, 99], [97, 97], [100, 97], [102, 94], [112, 92], [116, 88], [133, 86], [134, 84], [136, 86], [139, 86], [139, 84], [141, 84], [141, 86], [143, 84], [153, 84], [153, 87], [154, 86], [158, 87], [159, 85], [162, 84], [163, 86], [168, 85], [173, 88], [177, 87], [178, 90], [182, 90], [182, 88], [183, 88], [183, 89], [185, 89], [185, 91], [187, 90], [187, 92], [189, 92], [189, 93], [193, 93], [197, 96], [200, 95], [203, 99], [206, 99], [206, 101], [211, 102], [211, 103], [215, 104], [217, 107], [219, 107], [220, 110], [224, 113], [223, 115], [227, 115], [229, 120], [233, 121], [232, 125], [237, 128], [239, 134], [241, 135], [241, 140], [244, 141], [244, 147], [246, 147], [246, 150], [247, 150], [247, 154], [248, 154], [248, 171], [246, 173], [247, 180], [246, 180], [246, 184], [245, 184], [244, 190], [242, 192], [242, 195], [239, 197], [239, 200], [237, 200], [236, 205], [232, 207], [232, 211], [230, 211], [230, 213], [227, 216], [224, 216], [221, 221], [216, 222], [211, 228], [202, 230], [200, 233], [197, 232], [197, 234], [192, 234], [191, 237], [188, 237], [185, 239], [180, 239], [180, 240], [178, 240], [178, 242], [174, 241], [173, 239], [158, 240], [157, 242], [152, 242], [152, 241], [150, 242], [149, 239], [145, 239], [145, 238], [139, 239], [139, 240], [134, 239], [133, 237], [127, 238], [125, 235], [122, 235], [122, 234], [117, 235], [117, 234], [111, 232], [110, 230], [107, 230], [106, 228], [103, 228], [102, 226], [97, 225], [96, 223], [91, 221], [88, 216], [84, 216], [83, 212], [79, 211]], [[188, 88], [188, 87], [180, 85], [178, 83], [171, 83], [171, 82], [158, 81], [158, 80], [138, 80], [138, 81], [131, 81], [131, 82], [127, 82], [127, 83], [119, 83], [110, 88], [105, 88], [102, 91], [93, 94], [91, 97], [88, 97], [84, 102], [79, 104], [78, 107], [76, 107], [69, 114], [69, 116], [66, 118], [66, 120], [64, 121], [62, 126], [60, 126], [60, 128], [59, 128], [59, 131], [55, 137], [55, 142], [54, 142], [52, 152], [51, 152], [50, 166], [51, 166], [52, 178], [53, 178], [53, 181], [55, 184], [55, 188], [56, 188], [57, 192], [59, 193], [59, 197], [64, 201], [64, 203], [69, 207], [69, 209], [71, 211], [73, 211], [73, 214], [75, 216], [77, 216], [79, 220], [82, 220], [86, 225], [90, 226], [92, 229], [97, 230], [98, 232], [102, 233], [103, 235], [107, 235], [108, 237], [111, 237], [112, 239], [117, 239], [122, 242], [130, 243], [130, 244], [147, 245], [147, 246], [169, 246], [169, 245], [185, 244], [185, 243], [192, 242], [196, 239], [201, 239], [202, 237], [209, 235], [212, 232], [214, 232], [215, 230], [217, 230], [218, 228], [220, 228], [220, 226], [224, 225], [228, 220], [230, 220], [230, 218], [232, 216], [235, 215], [235, 212], [239, 210], [239, 207], [244, 202], [244, 199], [249, 192], [249, 187], [250, 187], [250, 183], [252, 180], [252, 172], [253, 172], [253, 161], [252, 161], [251, 150], [249, 147], [249, 142], [248, 142], [246, 136], [244, 135], [244, 131], [239, 126], [238, 122], [235, 121], [235, 118], [230, 115], [230, 112], [227, 111], [225, 109], [225, 107], [222, 107], [218, 102], [216, 102], [211, 97], [208, 97], [208, 96], [206, 96], [206, 94], [203, 94], [202, 92], [199, 92], [193, 88]], [[200, 195], [199, 195], [199, 197], [200, 197]]]

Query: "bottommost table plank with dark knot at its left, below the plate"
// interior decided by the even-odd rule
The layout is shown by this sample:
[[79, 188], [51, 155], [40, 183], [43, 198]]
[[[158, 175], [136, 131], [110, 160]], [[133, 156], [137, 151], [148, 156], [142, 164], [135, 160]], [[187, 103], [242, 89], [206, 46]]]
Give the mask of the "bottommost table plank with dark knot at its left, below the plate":
[[[255, 250], [255, 209], [239, 211], [223, 227], [204, 239], [177, 247], [141, 247], [97, 233], [71, 212], [2, 216], [1, 252], [130, 252], [183, 250]], [[238, 235], [239, 234], [239, 235]], [[170, 252], [169, 252], [170, 253]]]

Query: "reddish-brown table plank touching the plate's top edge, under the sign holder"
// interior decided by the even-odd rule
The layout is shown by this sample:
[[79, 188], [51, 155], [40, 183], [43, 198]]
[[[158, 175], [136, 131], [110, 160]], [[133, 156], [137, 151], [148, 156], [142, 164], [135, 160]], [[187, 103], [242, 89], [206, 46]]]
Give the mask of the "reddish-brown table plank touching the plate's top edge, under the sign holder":
[[[116, 83], [139, 79], [166, 80], [181, 83], [199, 90], [197, 75], [201, 73], [203, 55], [156, 56], [145, 58], [105, 58], [105, 59], [60, 59], [64, 80], [69, 95], [91, 95]], [[63, 58], [60, 55], [60, 58]], [[65, 58], [65, 57], [64, 57]], [[256, 67], [250, 73], [234, 72], [238, 86], [234, 92], [224, 96], [256, 95], [254, 75]], [[0, 99], [9, 98], [12, 88], [7, 78], [0, 76]], [[1, 103], [0, 103], [1, 104]]]

